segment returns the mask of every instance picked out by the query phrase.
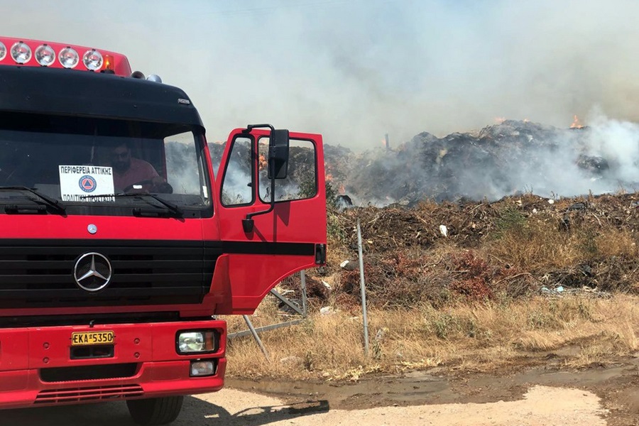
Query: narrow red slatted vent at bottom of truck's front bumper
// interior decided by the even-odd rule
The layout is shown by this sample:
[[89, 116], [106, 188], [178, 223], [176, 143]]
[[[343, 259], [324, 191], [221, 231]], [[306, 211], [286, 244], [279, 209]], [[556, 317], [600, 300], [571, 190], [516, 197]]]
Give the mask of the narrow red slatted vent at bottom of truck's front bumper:
[[36, 404], [80, 403], [82, 401], [113, 400], [142, 396], [139, 385], [93, 386], [90, 388], [54, 389], [40, 391]]

